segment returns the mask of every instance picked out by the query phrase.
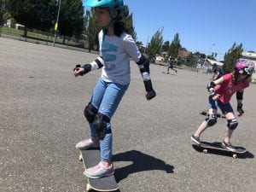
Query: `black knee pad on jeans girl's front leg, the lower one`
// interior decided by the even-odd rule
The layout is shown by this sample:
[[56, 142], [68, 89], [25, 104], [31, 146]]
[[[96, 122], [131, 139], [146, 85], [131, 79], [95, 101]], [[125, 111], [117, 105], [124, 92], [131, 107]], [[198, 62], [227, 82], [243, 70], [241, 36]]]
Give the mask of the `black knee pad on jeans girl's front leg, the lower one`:
[[110, 119], [107, 115], [102, 113], [96, 113], [95, 119], [93, 121], [93, 126], [96, 134], [101, 139], [104, 138], [106, 134], [111, 133], [111, 129], [107, 129], [107, 123], [109, 122]]

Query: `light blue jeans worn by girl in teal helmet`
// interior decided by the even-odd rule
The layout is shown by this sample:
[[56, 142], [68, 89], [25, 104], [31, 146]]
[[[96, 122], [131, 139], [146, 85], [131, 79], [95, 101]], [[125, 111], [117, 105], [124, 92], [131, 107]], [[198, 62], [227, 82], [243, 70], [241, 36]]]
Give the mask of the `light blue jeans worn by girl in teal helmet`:
[[[113, 117], [113, 113], [119, 106], [119, 102], [125, 95], [129, 84], [115, 84], [113, 82], [105, 82], [102, 78], [98, 79], [96, 87], [90, 98], [91, 104], [98, 109], [99, 113], [105, 114], [109, 119]], [[98, 136], [93, 127], [90, 125], [90, 137], [96, 139]], [[111, 129], [111, 124], [107, 123], [107, 129]], [[112, 133], [100, 140], [101, 159], [108, 161], [112, 158]]]

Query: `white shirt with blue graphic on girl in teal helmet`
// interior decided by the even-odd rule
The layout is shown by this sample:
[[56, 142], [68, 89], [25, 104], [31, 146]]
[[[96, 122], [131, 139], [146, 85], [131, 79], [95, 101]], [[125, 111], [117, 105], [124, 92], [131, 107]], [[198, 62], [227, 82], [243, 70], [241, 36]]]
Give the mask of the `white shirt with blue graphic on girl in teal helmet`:
[[130, 57], [139, 61], [141, 53], [131, 35], [123, 32], [120, 37], [99, 33], [100, 54], [103, 57], [102, 79], [107, 82], [129, 84], [131, 81]]

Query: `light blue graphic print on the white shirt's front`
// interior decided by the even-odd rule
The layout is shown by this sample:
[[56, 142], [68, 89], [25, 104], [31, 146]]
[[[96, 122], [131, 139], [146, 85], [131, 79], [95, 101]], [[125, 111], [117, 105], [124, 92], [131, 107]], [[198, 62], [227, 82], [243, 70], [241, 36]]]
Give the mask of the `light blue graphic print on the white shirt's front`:
[[116, 68], [116, 53], [118, 47], [114, 44], [108, 44], [106, 42], [100, 42], [101, 55], [104, 59], [106, 70], [113, 70]]

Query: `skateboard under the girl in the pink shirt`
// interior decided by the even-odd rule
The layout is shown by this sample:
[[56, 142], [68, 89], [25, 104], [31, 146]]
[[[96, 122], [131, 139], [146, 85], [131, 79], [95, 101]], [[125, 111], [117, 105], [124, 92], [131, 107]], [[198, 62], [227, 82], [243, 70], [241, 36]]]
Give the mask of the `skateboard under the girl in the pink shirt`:
[[213, 151], [223, 151], [228, 154], [232, 154], [232, 157], [236, 158], [240, 154], [245, 154], [247, 152], [246, 148], [242, 147], [235, 147], [236, 151], [230, 151], [227, 148], [222, 148], [221, 143], [215, 142], [215, 143], [208, 143], [208, 142], [201, 142], [201, 144], [198, 145], [199, 148], [202, 149], [202, 152], [204, 154], [207, 154], [208, 152]]

